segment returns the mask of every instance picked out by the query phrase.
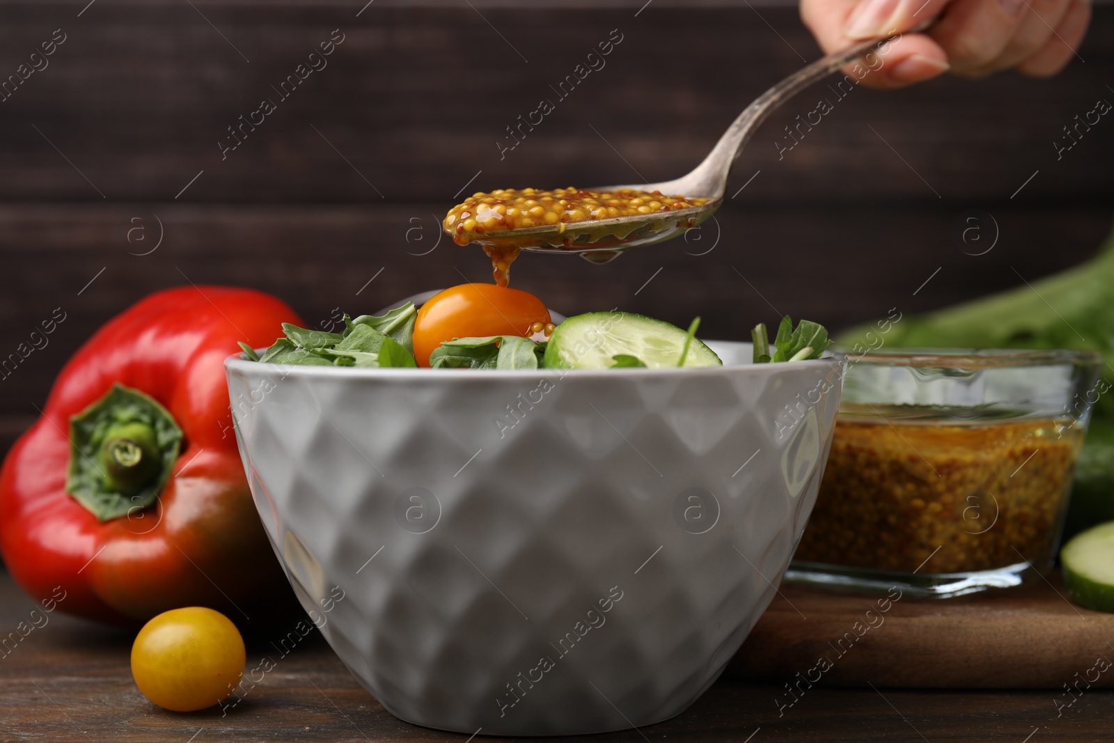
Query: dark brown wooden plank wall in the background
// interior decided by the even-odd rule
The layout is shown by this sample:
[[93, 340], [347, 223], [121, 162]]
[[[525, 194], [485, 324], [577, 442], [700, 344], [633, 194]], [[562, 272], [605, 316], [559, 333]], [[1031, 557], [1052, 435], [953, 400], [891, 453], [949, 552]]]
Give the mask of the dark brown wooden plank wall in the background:
[[[68, 313], [0, 381], [0, 450], [65, 359], [154, 290], [254, 286], [315, 324], [338, 305], [375, 311], [483, 281], [478, 250], [437, 242], [456, 194], [674, 177], [818, 56], [791, 4], [754, 0], [86, 2], [0, 2], [0, 80], [66, 35], [0, 102], [0, 356], [55, 307]], [[271, 86], [334, 29], [344, 40], [328, 67], [280, 100]], [[548, 86], [613, 29], [623, 40], [606, 67], [557, 100]], [[1114, 118], [1062, 159], [1053, 143], [1114, 101], [1114, 7], [1096, 8], [1078, 52], [1045, 81], [949, 78], [842, 99], [821, 84], [759, 131], [730, 193], [758, 176], [698, 239], [606, 266], [526, 256], [514, 285], [566, 313], [701, 314], [707, 336], [743, 338], [778, 313], [840, 327], [1068, 266], [1111, 227]], [[505, 128], [543, 96], [556, 110], [500, 158]], [[222, 159], [226, 127], [263, 98], [276, 110]], [[783, 127], [820, 98], [834, 110], [779, 159]], [[1000, 233], [986, 255], [950, 236], [971, 208]]]

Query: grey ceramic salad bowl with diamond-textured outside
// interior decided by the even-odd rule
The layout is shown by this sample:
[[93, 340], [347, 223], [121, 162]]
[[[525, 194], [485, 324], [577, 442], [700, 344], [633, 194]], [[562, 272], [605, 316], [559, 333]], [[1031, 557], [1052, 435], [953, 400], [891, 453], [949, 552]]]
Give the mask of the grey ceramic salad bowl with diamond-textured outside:
[[311, 618], [402, 720], [595, 733], [684, 711], [769, 605], [843, 360], [227, 371], [240, 451]]

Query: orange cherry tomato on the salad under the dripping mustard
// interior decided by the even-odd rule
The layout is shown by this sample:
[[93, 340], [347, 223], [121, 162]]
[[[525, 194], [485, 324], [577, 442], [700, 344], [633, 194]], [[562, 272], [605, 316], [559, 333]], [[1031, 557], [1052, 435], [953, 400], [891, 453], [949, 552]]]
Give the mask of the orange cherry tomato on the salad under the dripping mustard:
[[549, 310], [529, 292], [496, 284], [461, 284], [430, 297], [414, 320], [414, 358], [429, 366], [429, 354], [455, 338], [531, 334], [534, 323], [549, 323]]

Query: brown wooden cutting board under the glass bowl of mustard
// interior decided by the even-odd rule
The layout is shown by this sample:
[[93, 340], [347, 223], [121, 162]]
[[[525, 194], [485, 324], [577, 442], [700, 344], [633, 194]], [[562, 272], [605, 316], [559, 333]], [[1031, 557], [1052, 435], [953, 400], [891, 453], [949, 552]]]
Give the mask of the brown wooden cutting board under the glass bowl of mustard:
[[1114, 686], [1114, 614], [1072, 604], [1058, 573], [1034, 580], [958, 598], [897, 600], [897, 592], [783, 585], [727, 674], [800, 688], [1051, 688], [1065, 703], [1078, 696], [1068, 696], [1065, 684], [1081, 693]]

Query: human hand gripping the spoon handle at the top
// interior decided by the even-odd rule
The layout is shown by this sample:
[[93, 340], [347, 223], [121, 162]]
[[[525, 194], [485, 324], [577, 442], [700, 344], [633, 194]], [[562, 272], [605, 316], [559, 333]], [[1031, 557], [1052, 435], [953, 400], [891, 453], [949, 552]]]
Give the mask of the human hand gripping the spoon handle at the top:
[[[1088, 0], [801, 0], [801, 19], [825, 52], [908, 30], [942, 12], [926, 33], [891, 43], [861, 82], [901, 88], [951, 70], [983, 77], [1016, 68], [1059, 72], [1091, 20]], [[851, 72], [854, 63], [844, 68]], [[864, 68], [860, 67], [856, 77]]]

